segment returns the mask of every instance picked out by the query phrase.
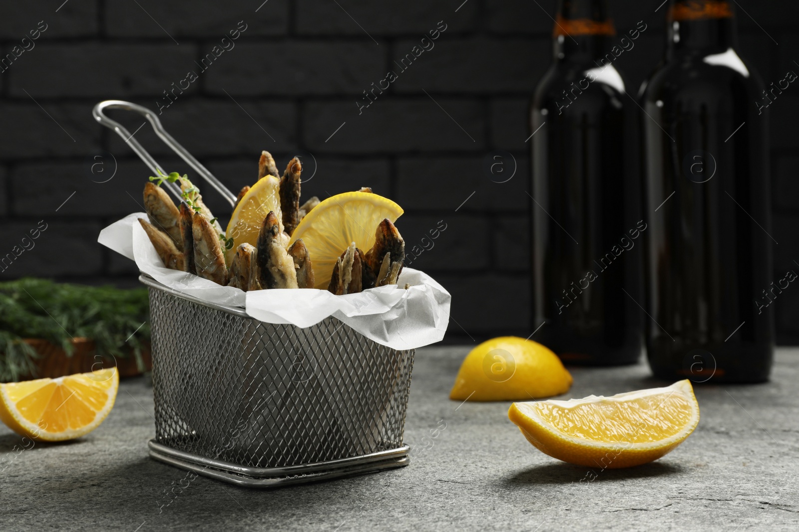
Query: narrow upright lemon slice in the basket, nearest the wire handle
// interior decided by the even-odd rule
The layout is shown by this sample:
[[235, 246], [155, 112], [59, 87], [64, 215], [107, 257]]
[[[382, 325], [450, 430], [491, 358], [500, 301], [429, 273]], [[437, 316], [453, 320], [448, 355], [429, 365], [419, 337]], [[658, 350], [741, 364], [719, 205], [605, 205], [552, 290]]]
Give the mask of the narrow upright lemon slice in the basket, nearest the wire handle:
[[280, 212], [280, 179], [265, 175], [252, 185], [241, 201], [233, 209], [228, 229], [225, 231], [227, 238], [233, 238], [233, 247], [225, 251], [225, 261], [230, 266], [233, 255], [240, 244], [256, 245], [260, 227], [264, 218], [273, 211], [283, 231], [283, 215]]

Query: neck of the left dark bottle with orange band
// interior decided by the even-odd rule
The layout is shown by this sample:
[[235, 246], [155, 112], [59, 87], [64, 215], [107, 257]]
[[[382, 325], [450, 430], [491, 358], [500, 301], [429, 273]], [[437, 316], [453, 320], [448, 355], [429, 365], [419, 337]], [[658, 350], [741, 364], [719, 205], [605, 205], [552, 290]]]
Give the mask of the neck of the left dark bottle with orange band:
[[555, 61], [590, 62], [602, 57], [615, 34], [607, 0], [559, 0], [552, 29]]

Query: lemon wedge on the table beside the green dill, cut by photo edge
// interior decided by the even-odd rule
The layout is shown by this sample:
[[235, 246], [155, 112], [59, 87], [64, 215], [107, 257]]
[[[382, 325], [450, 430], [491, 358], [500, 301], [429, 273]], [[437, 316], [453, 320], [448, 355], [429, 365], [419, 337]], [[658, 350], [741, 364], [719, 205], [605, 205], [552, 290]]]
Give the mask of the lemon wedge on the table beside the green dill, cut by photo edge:
[[0, 384], [0, 420], [32, 439], [79, 438], [105, 420], [117, 398], [117, 388], [117, 368]]

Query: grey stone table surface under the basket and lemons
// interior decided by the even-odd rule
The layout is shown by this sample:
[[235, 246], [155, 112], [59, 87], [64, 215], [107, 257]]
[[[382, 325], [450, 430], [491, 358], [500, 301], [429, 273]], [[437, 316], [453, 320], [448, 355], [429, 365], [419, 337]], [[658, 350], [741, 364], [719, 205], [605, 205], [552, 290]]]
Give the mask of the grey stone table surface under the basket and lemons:
[[[799, 530], [799, 349], [777, 351], [768, 384], [698, 385], [702, 420], [685, 443], [582, 483], [589, 470], [527, 443], [509, 403], [447, 398], [468, 349], [419, 349], [411, 465], [372, 475], [271, 491], [198, 477], [161, 508], [185, 471], [147, 455], [144, 378], [123, 381], [108, 419], [82, 439], [17, 454], [20, 437], [2, 427], [0, 530]], [[665, 384], [643, 362], [570, 371], [562, 398]]]

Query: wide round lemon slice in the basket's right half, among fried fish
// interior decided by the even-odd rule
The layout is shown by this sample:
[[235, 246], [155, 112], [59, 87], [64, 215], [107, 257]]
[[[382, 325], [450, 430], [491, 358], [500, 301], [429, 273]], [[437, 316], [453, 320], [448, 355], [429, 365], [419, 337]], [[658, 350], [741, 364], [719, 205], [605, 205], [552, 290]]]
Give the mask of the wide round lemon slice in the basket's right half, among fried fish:
[[291, 246], [302, 238], [313, 262], [316, 288], [330, 284], [333, 266], [350, 243], [366, 253], [375, 244], [375, 231], [383, 219], [393, 222], [403, 214], [391, 199], [369, 192], [344, 192], [313, 207], [294, 230]]

